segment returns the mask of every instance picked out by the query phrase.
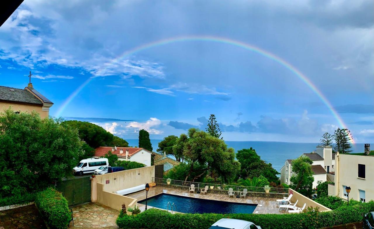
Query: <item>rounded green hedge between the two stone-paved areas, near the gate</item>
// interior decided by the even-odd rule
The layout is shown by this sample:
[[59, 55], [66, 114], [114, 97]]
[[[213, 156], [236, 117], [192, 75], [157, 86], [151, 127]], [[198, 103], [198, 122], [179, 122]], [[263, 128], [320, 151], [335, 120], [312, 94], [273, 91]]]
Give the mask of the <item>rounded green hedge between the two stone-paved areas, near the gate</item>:
[[35, 198], [35, 205], [52, 229], [66, 229], [71, 219], [67, 200], [60, 192], [48, 188], [39, 192]]

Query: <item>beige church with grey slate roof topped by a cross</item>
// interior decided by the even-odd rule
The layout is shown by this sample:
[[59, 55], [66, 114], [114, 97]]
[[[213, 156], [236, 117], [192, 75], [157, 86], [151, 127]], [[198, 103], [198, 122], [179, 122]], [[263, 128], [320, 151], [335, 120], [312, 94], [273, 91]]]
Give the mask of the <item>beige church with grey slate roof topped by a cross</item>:
[[28, 84], [25, 89], [0, 86], [0, 109], [12, 106], [15, 111], [36, 111], [41, 118], [49, 116], [49, 108], [53, 103], [40, 94], [33, 84]]

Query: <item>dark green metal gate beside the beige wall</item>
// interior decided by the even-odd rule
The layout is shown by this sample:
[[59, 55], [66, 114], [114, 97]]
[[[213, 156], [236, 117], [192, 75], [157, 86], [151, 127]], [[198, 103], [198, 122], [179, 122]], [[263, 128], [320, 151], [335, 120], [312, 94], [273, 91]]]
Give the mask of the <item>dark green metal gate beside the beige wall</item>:
[[91, 202], [90, 177], [63, 179], [57, 182], [56, 190], [62, 193], [69, 206]]

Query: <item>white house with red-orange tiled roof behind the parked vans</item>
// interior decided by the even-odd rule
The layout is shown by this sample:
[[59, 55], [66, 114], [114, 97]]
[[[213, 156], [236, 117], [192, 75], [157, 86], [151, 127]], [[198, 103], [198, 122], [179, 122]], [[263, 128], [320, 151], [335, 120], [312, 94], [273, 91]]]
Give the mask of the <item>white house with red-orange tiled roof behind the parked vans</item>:
[[95, 158], [105, 156], [105, 154], [111, 151], [112, 154], [116, 154], [118, 160], [126, 160], [130, 162], [139, 162], [146, 166], [151, 166], [151, 155], [152, 152], [144, 148], [136, 147], [106, 147], [101, 146], [95, 149]]

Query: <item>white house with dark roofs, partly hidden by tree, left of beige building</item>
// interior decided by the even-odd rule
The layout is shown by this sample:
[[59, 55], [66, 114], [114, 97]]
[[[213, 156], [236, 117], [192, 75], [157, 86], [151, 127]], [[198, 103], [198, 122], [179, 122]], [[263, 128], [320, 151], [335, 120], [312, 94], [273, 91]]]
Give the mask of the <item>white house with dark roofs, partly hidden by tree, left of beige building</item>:
[[[333, 181], [333, 173], [335, 171], [335, 153], [332, 153], [331, 146], [317, 146], [313, 153], [304, 153], [313, 161], [313, 189], [317, 187], [318, 182]], [[281, 169], [281, 183], [291, 184], [292, 177], [292, 159], [287, 159], [285, 165]]]

